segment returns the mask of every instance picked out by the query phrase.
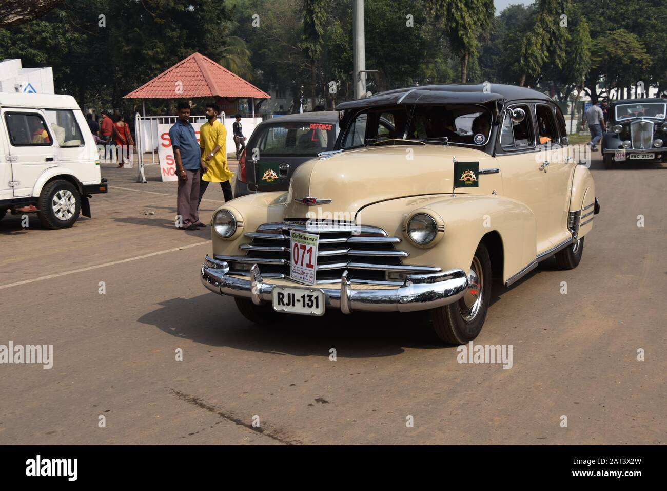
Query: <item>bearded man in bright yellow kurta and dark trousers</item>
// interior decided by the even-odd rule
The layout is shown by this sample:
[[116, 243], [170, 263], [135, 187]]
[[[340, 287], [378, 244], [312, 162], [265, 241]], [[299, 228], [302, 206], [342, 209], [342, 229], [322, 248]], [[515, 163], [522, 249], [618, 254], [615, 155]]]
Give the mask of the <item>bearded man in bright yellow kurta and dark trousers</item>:
[[[199, 182], [199, 203], [209, 182], [219, 182], [225, 201], [233, 198], [231, 178], [233, 173], [227, 167], [227, 130], [217, 120], [220, 108], [216, 104], [206, 104], [207, 122], [199, 130], [199, 146], [201, 147], [201, 181]], [[198, 208], [199, 206], [197, 206]], [[197, 224], [203, 226], [203, 224]]]

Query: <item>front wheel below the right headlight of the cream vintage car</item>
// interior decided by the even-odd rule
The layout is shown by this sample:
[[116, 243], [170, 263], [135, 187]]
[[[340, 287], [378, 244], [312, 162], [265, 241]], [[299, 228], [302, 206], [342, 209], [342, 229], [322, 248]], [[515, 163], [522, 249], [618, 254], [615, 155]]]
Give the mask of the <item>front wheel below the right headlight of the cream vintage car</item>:
[[436, 335], [449, 344], [475, 339], [484, 325], [491, 300], [491, 259], [486, 245], [479, 244], [468, 271], [468, 289], [455, 303], [431, 311]]

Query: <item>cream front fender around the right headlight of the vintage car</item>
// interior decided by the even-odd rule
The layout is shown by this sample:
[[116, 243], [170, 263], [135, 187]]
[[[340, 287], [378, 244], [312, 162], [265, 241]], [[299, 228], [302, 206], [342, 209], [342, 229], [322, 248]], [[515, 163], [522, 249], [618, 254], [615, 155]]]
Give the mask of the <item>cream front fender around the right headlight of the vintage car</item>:
[[[439, 214], [445, 223], [442, 240], [429, 249], [416, 247], [403, 232], [404, 220], [418, 209]], [[496, 232], [503, 251], [490, 253], [492, 257], [504, 258], [503, 282], [532, 263], [537, 253], [534, 213], [525, 204], [503, 196], [440, 194], [398, 198], [363, 208], [357, 223], [381, 226], [389, 235], [402, 238], [397, 248], [410, 254], [404, 264], [438, 266], [445, 271], [468, 271], [482, 238]]]

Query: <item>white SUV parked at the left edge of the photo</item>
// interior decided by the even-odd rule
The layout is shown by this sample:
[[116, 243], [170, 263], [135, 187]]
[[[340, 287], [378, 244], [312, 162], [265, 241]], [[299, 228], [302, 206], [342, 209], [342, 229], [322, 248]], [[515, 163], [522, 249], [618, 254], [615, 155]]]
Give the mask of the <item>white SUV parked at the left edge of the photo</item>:
[[46, 228], [91, 216], [88, 198], [107, 192], [97, 145], [72, 96], [0, 92], [0, 219], [37, 212]]

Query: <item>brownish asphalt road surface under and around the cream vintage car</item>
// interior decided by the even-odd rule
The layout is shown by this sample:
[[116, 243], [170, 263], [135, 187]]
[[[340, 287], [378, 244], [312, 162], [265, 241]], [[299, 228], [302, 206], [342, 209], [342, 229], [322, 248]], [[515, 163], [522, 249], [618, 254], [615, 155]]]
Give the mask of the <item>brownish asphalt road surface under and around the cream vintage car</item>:
[[199, 283], [210, 229], [173, 229], [175, 184], [105, 166], [93, 218], [0, 222], [0, 345], [53, 345], [51, 369], [0, 364], [0, 444], [665, 444], [667, 170], [592, 172], [579, 267], [494, 288], [476, 343], [512, 345], [503, 369], [419, 315], [251, 325]]

